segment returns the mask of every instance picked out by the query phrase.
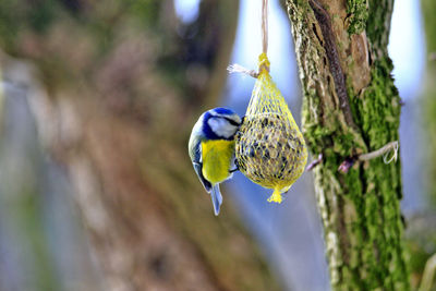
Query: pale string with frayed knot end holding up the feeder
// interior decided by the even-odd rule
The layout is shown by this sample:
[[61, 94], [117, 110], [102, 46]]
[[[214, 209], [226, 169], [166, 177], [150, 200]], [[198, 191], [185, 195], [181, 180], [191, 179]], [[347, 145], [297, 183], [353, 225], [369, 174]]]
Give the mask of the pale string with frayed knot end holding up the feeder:
[[262, 53], [259, 56], [258, 60], [258, 72], [254, 70], [249, 70], [238, 63], [231, 64], [227, 68], [227, 71], [231, 73], [242, 73], [250, 75], [252, 77], [257, 78], [259, 72], [262, 70], [266, 70], [269, 72], [269, 61], [267, 58], [267, 51], [268, 51], [268, 0], [262, 0]]

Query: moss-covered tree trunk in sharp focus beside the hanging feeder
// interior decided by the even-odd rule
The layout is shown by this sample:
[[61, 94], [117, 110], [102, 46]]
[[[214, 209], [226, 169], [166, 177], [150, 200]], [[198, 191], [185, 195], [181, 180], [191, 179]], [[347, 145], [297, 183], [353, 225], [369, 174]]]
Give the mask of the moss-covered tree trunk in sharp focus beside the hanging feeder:
[[[400, 162], [356, 157], [398, 141], [387, 53], [392, 0], [288, 0], [303, 87], [303, 133], [334, 290], [409, 290]], [[342, 173], [339, 167], [354, 166]], [[347, 169], [346, 169], [347, 170]]]

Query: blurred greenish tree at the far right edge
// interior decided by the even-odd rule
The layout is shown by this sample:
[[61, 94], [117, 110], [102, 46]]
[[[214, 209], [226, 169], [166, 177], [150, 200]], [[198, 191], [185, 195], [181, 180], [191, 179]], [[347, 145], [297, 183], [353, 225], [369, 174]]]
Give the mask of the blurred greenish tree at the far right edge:
[[[426, 71], [424, 77], [424, 90], [422, 109], [424, 112], [425, 159], [424, 181], [429, 203], [427, 211], [416, 214], [411, 219], [408, 229], [408, 246], [411, 250], [412, 284], [420, 282], [420, 291], [436, 290], [435, 253], [436, 253], [436, 217], [432, 210], [436, 205], [436, 2], [432, 0], [421, 1], [424, 29], [426, 37]], [[429, 211], [428, 211], [429, 210]], [[433, 257], [433, 258], [432, 258]], [[433, 265], [433, 266], [432, 266]], [[425, 267], [425, 272], [424, 271]], [[426, 274], [426, 275], [425, 275]]]

